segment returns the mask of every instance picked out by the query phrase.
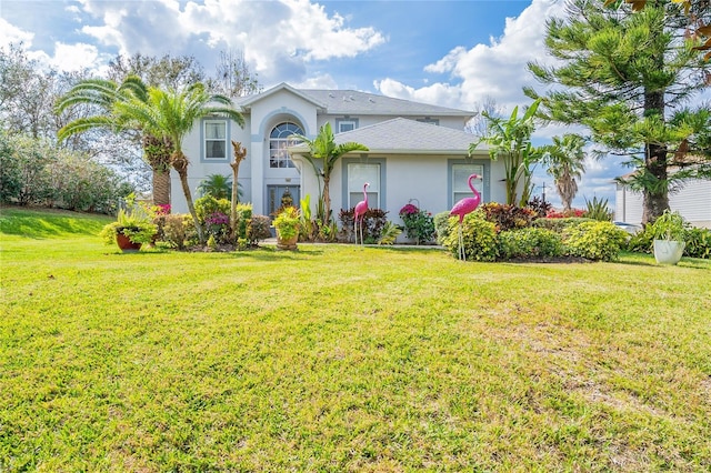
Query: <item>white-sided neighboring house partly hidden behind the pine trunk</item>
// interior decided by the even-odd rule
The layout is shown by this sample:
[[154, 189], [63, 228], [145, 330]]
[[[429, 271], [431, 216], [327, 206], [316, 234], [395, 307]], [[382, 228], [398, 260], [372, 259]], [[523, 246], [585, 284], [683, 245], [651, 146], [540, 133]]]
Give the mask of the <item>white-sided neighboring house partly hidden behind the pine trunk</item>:
[[[614, 219], [620, 222], [642, 222], [643, 197], [627, 185], [617, 184]], [[711, 180], [689, 181], [679, 191], [669, 195], [669, 207], [679, 211], [693, 227], [711, 229]]]

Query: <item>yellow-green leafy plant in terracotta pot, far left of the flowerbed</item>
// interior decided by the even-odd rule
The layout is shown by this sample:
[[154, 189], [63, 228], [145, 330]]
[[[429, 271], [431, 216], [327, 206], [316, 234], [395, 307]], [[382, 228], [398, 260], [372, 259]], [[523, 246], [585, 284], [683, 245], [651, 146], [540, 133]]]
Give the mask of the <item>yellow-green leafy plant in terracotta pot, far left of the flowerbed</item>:
[[116, 222], [103, 227], [99, 234], [106, 244], [117, 244], [122, 251], [138, 251], [143, 243], [150, 243], [158, 228], [148, 213], [133, 208], [132, 199], [127, 199], [129, 210], [119, 210]]

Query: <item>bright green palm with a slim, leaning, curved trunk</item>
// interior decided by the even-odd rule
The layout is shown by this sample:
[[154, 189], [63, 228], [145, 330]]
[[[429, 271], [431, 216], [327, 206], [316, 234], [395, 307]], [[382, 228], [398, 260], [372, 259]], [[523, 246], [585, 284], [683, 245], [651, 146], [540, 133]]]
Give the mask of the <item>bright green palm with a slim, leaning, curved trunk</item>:
[[146, 132], [167, 138], [173, 143], [170, 162], [180, 177], [180, 184], [198, 232], [198, 239], [200, 243], [204, 243], [188, 183], [190, 161], [182, 151], [182, 140], [194, 128], [196, 122], [204, 117], [227, 117], [243, 127], [244, 118], [242, 114], [232, 107], [229, 98], [210, 95], [200, 82], [191, 84], [182, 91], [149, 88], [146, 101], [139, 98], [118, 101], [114, 103], [114, 113], [121, 122], [133, 123]]

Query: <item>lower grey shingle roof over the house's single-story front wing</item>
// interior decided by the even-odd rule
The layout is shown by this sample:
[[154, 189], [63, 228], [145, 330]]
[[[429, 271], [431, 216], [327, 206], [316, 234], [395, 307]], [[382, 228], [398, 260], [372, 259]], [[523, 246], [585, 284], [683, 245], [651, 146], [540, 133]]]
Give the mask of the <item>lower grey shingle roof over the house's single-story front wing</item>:
[[[395, 118], [369, 127], [334, 135], [337, 144], [357, 142], [368, 147], [369, 152], [387, 154], [469, 154], [469, 145], [477, 137], [462, 130]], [[304, 152], [304, 144], [289, 149]], [[481, 151], [488, 153], [485, 148]], [[361, 152], [361, 151], [358, 151]]]

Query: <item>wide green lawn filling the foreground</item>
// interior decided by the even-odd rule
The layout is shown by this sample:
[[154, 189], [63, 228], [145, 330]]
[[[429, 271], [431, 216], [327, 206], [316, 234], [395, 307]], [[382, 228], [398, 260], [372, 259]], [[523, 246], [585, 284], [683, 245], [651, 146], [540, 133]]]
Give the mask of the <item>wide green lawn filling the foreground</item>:
[[0, 471], [709, 471], [711, 262], [121, 254], [2, 209]]

